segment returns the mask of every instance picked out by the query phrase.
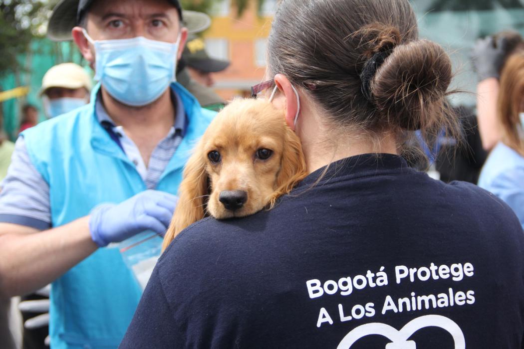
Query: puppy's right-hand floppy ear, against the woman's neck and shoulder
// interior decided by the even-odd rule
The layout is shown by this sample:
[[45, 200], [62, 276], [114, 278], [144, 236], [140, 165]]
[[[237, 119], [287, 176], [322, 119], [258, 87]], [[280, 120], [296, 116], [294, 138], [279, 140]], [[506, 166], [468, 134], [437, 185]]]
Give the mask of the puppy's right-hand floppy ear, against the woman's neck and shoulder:
[[291, 192], [291, 189], [307, 175], [300, 139], [286, 126], [286, 142], [280, 162], [280, 171], [277, 175], [276, 189], [269, 200], [270, 208], [275, 206], [280, 196]]

